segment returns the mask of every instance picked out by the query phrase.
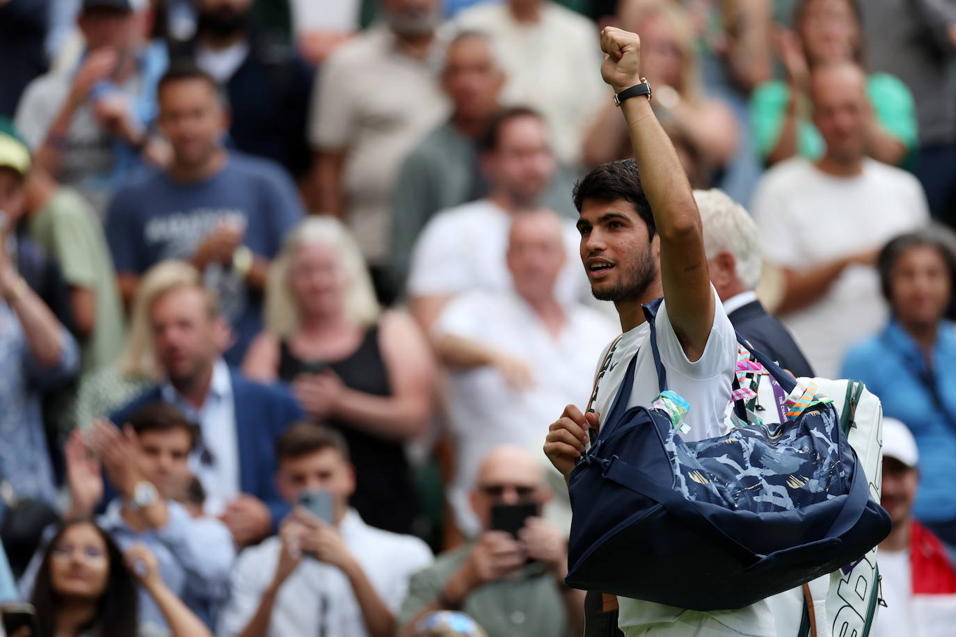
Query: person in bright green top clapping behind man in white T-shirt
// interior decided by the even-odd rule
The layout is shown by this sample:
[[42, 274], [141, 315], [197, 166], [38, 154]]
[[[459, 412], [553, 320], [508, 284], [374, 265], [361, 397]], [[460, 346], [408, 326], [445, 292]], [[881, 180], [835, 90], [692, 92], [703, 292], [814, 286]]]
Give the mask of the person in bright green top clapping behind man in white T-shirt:
[[[838, 62], [863, 61], [862, 27], [851, 0], [802, 0], [793, 23], [795, 33], [780, 38], [787, 80], [765, 82], [750, 96], [753, 137], [768, 165], [793, 155], [823, 155], [823, 138], [810, 120], [810, 74]], [[918, 142], [913, 96], [899, 78], [882, 73], [868, 76], [866, 91], [872, 110], [869, 155], [891, 165], [905, 163]]]

